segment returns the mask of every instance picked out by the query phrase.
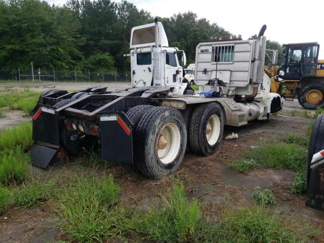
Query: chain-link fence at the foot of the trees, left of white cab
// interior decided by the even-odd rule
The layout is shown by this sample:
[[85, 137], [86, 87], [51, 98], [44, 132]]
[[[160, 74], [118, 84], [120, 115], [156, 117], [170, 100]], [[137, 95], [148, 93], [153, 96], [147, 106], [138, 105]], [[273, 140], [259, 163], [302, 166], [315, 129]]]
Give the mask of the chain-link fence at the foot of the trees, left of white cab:
[[92, 70], [55, 70], [33, 68], [30, 70], [0, 70], [0, 82], [30, 83], [30, 82], [131, 82], [131, 74], [126, 71], [104, 72]]

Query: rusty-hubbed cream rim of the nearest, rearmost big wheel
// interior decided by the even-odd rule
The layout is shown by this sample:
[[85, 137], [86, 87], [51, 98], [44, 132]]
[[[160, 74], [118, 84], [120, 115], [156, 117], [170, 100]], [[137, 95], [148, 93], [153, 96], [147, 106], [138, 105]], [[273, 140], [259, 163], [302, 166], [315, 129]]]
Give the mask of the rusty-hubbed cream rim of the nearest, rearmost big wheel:
[[180, 140], [180, 130], [174, 123], [169, 123], [161, 129], [156, 141], [157, 156], [161, 163], [170, 164], [176, 158]]

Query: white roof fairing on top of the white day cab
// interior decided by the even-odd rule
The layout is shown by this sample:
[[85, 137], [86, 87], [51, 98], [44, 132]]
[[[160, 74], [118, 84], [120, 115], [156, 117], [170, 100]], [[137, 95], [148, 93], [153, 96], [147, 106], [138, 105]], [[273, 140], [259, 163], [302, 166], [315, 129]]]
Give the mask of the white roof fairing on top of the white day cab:
[[[158, 46], [169, 47], [166, 31], [161, 22], [158, 25]], [[130, 48], [155, 46], [155, 23], [132, 28]]]

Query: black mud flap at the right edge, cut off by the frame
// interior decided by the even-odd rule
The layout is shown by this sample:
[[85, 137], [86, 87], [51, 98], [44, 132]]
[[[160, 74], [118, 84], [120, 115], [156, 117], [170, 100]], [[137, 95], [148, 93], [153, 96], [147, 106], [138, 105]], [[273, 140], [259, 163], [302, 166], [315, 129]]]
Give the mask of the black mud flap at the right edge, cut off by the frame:
[[324, 211], [324, 159], [311, 166], [306, 206]]

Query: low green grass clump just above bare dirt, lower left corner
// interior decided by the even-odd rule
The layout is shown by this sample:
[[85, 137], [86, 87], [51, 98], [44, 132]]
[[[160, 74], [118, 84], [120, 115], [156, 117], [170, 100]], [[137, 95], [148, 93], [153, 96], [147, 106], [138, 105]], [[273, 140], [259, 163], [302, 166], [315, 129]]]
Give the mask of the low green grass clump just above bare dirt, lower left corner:
[[27, 208], [48, 200], [54, 191], [54, 179], [43, 183], [37, 180], [25, 182], [14, 190], [13, 198], [18, 207]]

